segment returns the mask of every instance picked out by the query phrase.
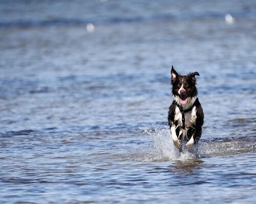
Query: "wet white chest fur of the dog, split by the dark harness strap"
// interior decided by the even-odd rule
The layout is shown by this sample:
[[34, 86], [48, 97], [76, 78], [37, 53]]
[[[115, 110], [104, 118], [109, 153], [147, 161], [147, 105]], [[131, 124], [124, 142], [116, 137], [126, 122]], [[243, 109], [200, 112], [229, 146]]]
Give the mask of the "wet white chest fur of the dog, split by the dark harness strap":
[[[197, 120], [197, 111], [196, 111], [196, 107], [194, 107], [191, 111], [184, 113], [185, 115], [185, 126], [186, 127], [190, 127], [190, 126], [194, 126], [196, 124], [196, 120]], [[176, 107], [175, 109], [175, 117], [174, 117], [174, 121], [178, 121], [178, 125], [176, 126], [176, 128], [178, 126], [182, 126], [182, 114], [180, 112], [180, 109], [178, 107]], [[187, 136], [187, 130], [183, 130], [180, 129], [180, 135], [183, 135], [184, 137]]]

